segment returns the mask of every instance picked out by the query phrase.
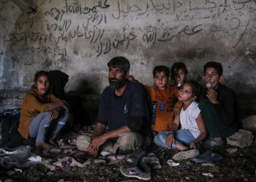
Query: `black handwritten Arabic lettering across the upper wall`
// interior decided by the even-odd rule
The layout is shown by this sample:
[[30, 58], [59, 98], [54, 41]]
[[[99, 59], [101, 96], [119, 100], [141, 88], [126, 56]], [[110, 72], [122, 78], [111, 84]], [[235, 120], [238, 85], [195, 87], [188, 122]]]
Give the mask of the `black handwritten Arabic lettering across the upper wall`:
[[[7, 3], [0, 3], [1, 10]], [[17, 52], [19, 58], [26, 57], [26, 66], [55, 64], [57, 68], [68, 65], [64, 59], [67, 47], [78, 43], [83, 50], [94, 52], [93, 57], [135, 47], [157, 49], [200, 36], [207, 36], [213, 44], [228, 41], [236, 47], [252, 22], [241, 14], [248, 9], [247, 13], [255, 14], [255, 7], [255, 1], [238, 0], [37, 1], [37, 13], [43, 15], [19, 19], [2, 31], [1, 44], [26, 45]]]

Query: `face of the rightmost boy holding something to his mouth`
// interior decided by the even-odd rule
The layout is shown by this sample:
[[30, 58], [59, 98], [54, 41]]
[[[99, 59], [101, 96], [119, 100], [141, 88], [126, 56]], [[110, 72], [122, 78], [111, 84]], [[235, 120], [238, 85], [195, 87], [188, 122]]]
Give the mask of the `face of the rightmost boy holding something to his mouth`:
[[222, 76], [219, 76], [217, 70], [215, 68], [206, 68], [205, 74], [203, 76], [203, 81], [207, 83], [211, 83], [211, 88], [217, 89], [219, 86], [219, 82], [222, 80]]

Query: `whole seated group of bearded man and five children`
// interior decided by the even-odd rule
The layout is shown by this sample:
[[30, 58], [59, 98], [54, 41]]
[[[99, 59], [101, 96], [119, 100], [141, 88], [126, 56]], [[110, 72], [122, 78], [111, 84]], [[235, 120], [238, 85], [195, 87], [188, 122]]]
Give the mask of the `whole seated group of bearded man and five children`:
[[[124, 57], [108, 62], [110, 85], [102, 92], [96, 127], [91, 137], [77, 143], [91, 156], [132, 153], [153, 143], [184, 152], [199, 145], [224, 146], [225, 138], [238, 130], [236, 95], [221, 84], [220, 63], [204, 65], [205, 89], [196, 81], [187, 81], [184, 63], [174, 63], [171, 71], [156, 66], [153, 86], [140, 84], [129, 75], [129, 67]], [[170, 75], [173, 86], [169, 86]], [[39, 149], [53, 148], [69, 120], [67, 103], [49, 90], [48, 72], [38, 71], [21, 106], [18, 131], [23, 138], [35, 138]], [[49, 140], [45, 137], [48, 127], [53, 128]]]

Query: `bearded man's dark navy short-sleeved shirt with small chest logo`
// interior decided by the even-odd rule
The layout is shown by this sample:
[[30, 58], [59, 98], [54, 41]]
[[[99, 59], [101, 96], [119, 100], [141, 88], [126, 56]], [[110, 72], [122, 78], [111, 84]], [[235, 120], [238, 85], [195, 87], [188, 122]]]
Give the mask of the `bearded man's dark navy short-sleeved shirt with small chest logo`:
[[147, 119], [146, 94], [140, 84], [127, 81], [121, 96], [116, 96], [111, 87], [106, 87], [102, 92], [97, 120], [108, 125], [108, 130], [127, 126], [132, 131], [149, 135]]

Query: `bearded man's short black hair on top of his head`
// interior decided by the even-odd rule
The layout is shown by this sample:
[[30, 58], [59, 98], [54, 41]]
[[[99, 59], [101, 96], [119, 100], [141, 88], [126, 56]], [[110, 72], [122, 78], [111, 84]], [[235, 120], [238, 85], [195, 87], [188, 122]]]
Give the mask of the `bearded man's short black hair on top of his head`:
[[123, 56], [117, 56], [115, 58], [112, 58], [108, 62], [108, 68], [121, 68], [125, 72], [129, 71], [129, 60], [127, 58], [124, 58]]

